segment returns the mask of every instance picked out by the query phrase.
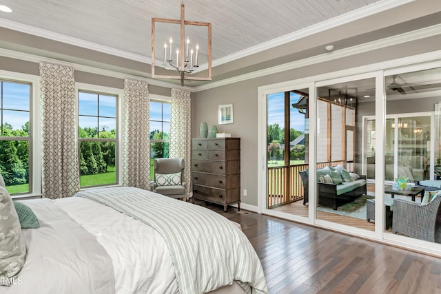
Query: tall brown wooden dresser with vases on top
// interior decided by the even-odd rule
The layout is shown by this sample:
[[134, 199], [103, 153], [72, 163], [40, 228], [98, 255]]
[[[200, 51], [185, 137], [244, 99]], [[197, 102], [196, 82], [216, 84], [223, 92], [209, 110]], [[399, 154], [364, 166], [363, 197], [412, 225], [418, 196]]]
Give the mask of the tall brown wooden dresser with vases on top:
[[195, 138], [192, 144], [194, 199], [240, 210], [240, 138]]

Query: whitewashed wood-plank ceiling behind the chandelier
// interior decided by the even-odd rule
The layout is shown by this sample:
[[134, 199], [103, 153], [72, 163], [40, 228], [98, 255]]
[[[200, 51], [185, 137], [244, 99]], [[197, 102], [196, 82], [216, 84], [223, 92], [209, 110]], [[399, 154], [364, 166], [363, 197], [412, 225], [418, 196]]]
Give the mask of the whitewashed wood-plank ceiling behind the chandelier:
[[[212, 23], [212, 56], [216, 61], [384, 1], [393, 2], [185, 0], [184, 4], [186, 20]], [[142, 59], [151, 56], [152, 17], [179, 19], [181, 1], [0, 0], [0, 5], [13, 10], [0, 12], [0, 26], [74, 45], [86, 41], [104, 51], [113, 48]]]

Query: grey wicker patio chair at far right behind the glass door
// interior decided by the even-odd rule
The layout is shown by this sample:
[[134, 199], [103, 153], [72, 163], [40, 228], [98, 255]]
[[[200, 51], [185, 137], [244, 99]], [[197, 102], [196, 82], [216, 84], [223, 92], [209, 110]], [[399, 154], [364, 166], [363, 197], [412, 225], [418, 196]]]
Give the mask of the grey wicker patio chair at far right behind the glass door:
[[392, 233], [435, 242], [435, 232], [441, 196], [426, 205], [407, 200], [393, 200]]

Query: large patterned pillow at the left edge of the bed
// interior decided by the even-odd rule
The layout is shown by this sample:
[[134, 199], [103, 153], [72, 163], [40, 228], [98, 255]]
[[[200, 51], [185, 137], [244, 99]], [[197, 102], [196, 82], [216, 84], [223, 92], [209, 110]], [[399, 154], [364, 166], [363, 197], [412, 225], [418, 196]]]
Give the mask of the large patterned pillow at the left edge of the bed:
[[0, 187], [0, 218], [0, 285], [8, 285], [25, 263], [26, 246], [14, 203], [3, 187]]

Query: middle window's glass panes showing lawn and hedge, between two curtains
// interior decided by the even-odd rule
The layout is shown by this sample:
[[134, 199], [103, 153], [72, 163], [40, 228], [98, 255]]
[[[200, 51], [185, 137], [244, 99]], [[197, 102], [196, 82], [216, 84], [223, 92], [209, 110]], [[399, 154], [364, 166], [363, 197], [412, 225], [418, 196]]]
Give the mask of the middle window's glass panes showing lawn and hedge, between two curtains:
[[79, 91], [80, 186], [117, 181], [116, 95]]

